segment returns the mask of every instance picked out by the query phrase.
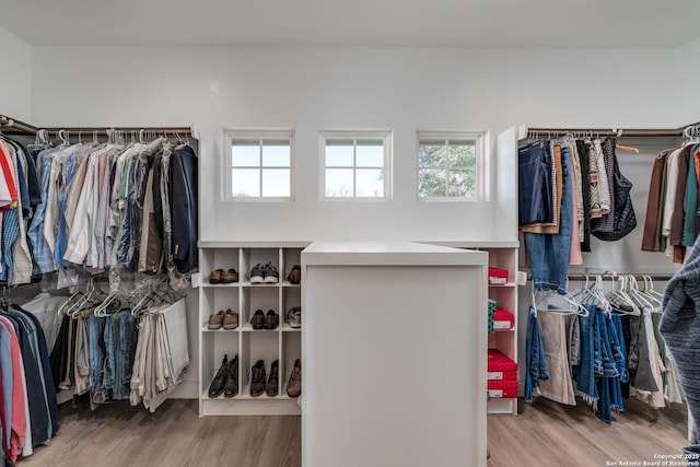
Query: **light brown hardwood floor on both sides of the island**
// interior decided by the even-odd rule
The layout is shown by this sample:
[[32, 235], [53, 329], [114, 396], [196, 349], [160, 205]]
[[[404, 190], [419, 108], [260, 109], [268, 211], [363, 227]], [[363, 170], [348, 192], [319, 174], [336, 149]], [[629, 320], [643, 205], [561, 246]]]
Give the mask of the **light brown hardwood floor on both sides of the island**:
[[[664, 409], [655, 423], [650, 423], [651, 409], [635, 400], [626, 401], [612, 424], [582, 402], [521, 401], [520, 412], [489, 416], [489, 467], [643, 463], [655, 460], [655, 454], [679, 454], [687, 445], [685, 406]], [[196, 400], [174, 399], [155, 413], [128, 404], [91, 412], [67, 402], [59, 407], [59, 422], [51, 443], [20, 459], [19, 467], [301, 466], [300, 417], [198, 418]]]

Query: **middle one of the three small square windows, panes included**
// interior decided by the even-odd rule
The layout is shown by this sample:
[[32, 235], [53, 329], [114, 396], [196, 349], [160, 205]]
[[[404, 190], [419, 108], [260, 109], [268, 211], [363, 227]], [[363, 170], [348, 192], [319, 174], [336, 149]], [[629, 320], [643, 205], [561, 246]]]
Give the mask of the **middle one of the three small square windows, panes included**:
[[389, 137], [388, 131], [324, 132], [324, 197], [389, 198]]

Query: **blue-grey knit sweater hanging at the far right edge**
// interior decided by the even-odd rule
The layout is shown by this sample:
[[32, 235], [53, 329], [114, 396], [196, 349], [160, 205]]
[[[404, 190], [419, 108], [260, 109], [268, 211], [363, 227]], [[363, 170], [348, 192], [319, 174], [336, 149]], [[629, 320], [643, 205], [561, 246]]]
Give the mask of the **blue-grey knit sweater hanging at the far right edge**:
[[688, 407], [700, 422], [700, 237], [664, 291], [660, 331], [670, 349]]

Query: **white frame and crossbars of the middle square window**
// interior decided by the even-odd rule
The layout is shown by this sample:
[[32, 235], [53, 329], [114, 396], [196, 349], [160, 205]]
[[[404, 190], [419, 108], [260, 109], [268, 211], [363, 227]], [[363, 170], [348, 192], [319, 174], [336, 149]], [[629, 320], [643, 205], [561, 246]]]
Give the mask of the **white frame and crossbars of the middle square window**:
[[[346, 140], [382, 140], [384, 145], [384, 196], [326, 196], [326, 141], [335, 139]], [[322, 130], [318, 136], [318, 162], [319, 162], [319, 196], [324, 201], [370, 201], [370, 202], [383, 202], [392, 199], [392, 148], [393, 148], [393, 131], [389, 129], [332, 129]], [[354, 164], [352, 167], [338, 167], [338, 168], [352, 168], [352, 183], [357, 184], [355, 171], [358, 168], [377, 168], [377, 167], [363, 167]]]

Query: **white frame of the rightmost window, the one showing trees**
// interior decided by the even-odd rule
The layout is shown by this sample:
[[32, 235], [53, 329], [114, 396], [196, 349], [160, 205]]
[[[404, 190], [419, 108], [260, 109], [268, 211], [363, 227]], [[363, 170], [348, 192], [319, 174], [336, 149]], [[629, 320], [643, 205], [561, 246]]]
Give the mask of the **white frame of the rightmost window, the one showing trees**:
[[[418, 130], [416, 132], [416, 199], [420, 202], [482, 202], [488, 199], [487, 172], [488, 172], [488, 131], [485, 130]], [[421, 140], [474, 140], [476, 145], [475, 176], [477, 182], [474, 198], [464, 196], [420, 196], [420, 142]], [[450, 168], [450, 167], [445, 167]]]

